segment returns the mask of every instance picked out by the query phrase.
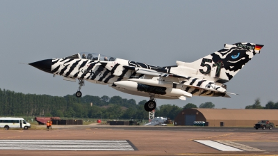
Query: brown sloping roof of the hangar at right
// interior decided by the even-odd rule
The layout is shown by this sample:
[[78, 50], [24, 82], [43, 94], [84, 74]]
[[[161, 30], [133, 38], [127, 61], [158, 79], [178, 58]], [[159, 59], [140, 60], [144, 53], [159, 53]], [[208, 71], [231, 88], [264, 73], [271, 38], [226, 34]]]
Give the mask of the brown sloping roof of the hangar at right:
[[278, 120], [278, 109], [197, 109], [206, 120]]

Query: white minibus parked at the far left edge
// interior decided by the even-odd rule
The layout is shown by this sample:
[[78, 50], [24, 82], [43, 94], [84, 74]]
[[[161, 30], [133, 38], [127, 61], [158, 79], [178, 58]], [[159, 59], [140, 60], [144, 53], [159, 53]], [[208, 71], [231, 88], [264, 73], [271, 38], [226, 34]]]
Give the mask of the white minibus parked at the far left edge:
[[0, 118], [0, 128], [5, 128], [5, 130], [9, 128], [24, 128], [28, 130], [28, 128], [31, 128], [31, 124], [27, 123], [24, 118], [5, 117]]

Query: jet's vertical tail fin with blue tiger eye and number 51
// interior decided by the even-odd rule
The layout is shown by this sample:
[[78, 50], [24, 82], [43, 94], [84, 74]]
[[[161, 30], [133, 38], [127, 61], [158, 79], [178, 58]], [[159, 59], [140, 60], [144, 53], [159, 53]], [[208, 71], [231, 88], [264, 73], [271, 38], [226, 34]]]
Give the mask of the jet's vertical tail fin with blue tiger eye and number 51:
[[215, 81], [225, 83], [231, 80], [255, 54], [260, 53], [262, 47], [263, 45], [249, 42], [225, 44], [218, 52], [183, 65], [196, 69], [197, 75], [214, 77]]

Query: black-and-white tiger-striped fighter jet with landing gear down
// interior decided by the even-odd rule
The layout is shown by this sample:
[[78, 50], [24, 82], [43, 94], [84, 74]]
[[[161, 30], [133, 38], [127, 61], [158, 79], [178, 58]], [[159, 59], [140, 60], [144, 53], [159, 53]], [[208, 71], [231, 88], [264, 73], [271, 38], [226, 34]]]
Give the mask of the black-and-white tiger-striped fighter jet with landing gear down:
[[63, 59], [29, 63], [67, 81], [79, 80], [76, 97], [82, 96], [84, 81], [108, 84], [117, 91], [149, 97], [145, 110], [156, 108], [156, 98], [186, 100], [192, 96], [227, 97], [227, 86], [243, 66], [260, 53], [263, 45], [238, 42], [192, 63], [158, 67], [95, 53], [78, 53]]

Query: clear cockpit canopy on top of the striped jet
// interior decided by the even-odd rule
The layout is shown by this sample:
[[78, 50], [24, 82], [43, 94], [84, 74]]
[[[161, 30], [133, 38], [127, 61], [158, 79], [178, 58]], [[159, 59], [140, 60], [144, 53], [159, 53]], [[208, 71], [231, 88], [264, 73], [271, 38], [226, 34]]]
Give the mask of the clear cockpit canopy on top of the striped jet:
[[86, 53], [81, 52], [78, 54], [74, 54], [72, 56], [67, 56], [65, 59], [89, 59], [92, 61], [115, 61], [115, 57], [101, 55], [101, 54], [95, 54], [95, 53]]

